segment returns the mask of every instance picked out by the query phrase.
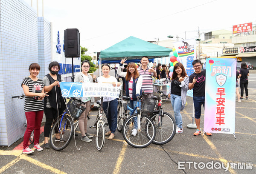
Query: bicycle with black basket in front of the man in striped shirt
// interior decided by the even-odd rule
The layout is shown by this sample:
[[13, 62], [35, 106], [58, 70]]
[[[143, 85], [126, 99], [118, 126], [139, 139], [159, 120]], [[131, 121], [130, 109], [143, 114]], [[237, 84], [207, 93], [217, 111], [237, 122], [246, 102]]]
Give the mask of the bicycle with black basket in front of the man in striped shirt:
[[[134, 109], [131, 109], [129, 106], [127, 106], [127, 109], [131, 111], [131, 116], [125, 120], [122, 127], [122, 135], [125, 141], [129, 145], [135, 148], [147, 147], [153, 142], [156, 136], [156, 128], [155, 128], [154, 122], [149, 117], [147, 117], [148, 114], [144, 112], [143, 107], [142, 107], [142, 110], [140, 110], [140, 102], [142, 103], [145, 102], [145, 101], [142, 101], [143, 96], [146, 96], [144, 92], [141, 96], [137, 98], [137, 103]], [[125, 100], [131, 99], [131, 97], [123, 97], [123, 98], [125, 98]], [[150, 99], [150, 98], [147, 98], [147, 99]], [[153, 105], [153, 109], [152, 109], [153, 111], [154, 104], [151, 103], [151, 106], [152, 105]], [[134, 114], [134, 111], [136, 109], [137, 109], [137, 114]], [[134, 131], [137, 131], [137, 133], [134, 134]]]

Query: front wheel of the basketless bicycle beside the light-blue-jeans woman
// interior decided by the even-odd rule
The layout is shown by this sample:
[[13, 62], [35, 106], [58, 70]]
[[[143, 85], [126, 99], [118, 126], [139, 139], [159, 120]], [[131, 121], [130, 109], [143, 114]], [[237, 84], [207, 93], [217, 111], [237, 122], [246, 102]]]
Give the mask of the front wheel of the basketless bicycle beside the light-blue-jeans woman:
[[176, 132], [176, 123], [171, 114], [163, 112], [162, 123], [158, 125], [159, 113], [154, 113], [150, 116], [151, 120], [156, 126], [156, 137], [154, 138], [154, 144], [166, 144], [172, 140]]

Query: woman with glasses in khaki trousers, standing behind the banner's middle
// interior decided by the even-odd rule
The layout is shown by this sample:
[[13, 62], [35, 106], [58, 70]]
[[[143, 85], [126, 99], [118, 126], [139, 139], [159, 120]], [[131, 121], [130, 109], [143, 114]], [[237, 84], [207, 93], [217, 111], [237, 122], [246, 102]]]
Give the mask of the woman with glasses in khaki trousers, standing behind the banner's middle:
[[[90, 70], [90, 62], [84, 60], [81, 63], [81, 66], [82, 71], [76, 74], [74, 82], [92, 83], [93, 77], [90, 74], [88, 74], [88, 71]], [[79, 129], [81, 131], [81, 140], [84, 142], [91, 142], [92, 140], [90, 138], [93, 138], [93, 135], [87, 132], [87, 115], [90, 111], [90, 108], [93, 108], [94, 106], [94, 97], [79, 97], [77, 99], [86, 103], [85, 105], [81, 104], [81, 106], [86, 107], [86, 110], [81, 114], [78, 120]]]

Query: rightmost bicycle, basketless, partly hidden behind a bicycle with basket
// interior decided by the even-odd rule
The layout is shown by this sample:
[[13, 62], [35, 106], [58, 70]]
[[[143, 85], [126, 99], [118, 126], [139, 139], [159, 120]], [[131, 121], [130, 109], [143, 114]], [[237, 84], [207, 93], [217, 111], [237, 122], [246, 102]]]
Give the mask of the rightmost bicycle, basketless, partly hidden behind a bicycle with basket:
[[175, 136], [176, 132], [176, 123], [171, 114], [163, 111], [162, 105], [162, 97], [167, 95], [163, 94], [162, 91], [157, 91], [160, 93], [159, 103], [153, 114], [151, 114], [150, 118], [153, 120], [154, 125], [156, 126], [156, 136], [154, 138], [153, 143], [157, 145], [166, 144], [172, 140]]

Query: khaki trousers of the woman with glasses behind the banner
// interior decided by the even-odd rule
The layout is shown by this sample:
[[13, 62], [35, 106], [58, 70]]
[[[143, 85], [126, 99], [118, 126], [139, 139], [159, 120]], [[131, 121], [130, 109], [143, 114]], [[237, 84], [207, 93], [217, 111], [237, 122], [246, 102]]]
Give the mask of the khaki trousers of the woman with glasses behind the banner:
[[86, 105], [81, 104], [81, 106], [86, 107], [86, 110], [81, 114], [78, 120], [78, 126], [81, 131], [82, 137], [86, 136], [87, 133], [87, 115], [90, 111], [90, 100], [85, 103]]

